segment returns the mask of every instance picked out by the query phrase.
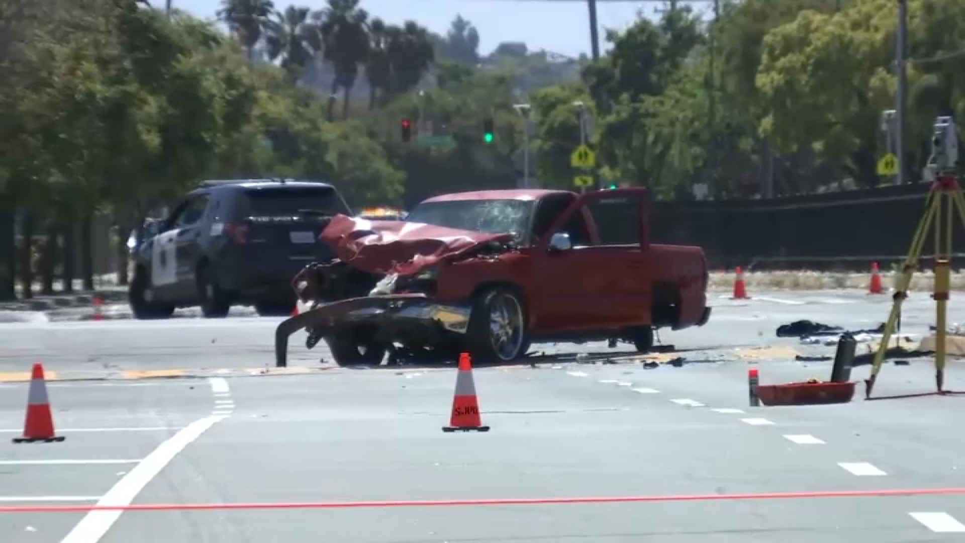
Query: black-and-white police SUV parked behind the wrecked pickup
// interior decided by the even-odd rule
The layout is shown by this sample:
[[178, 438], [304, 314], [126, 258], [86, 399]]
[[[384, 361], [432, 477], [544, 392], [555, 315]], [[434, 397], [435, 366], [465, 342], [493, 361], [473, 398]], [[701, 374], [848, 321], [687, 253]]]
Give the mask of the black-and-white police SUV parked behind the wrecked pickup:
[[128, 289], [134, 317], [163, 319], [192, 305], [206, 317], [224, 317], [234, 304], [290, 312], [294, 274], [331, 257], [318, 234], [335, 214], [351, 212], [325, 183], [205, 182], [167, 218], [145, 224]]

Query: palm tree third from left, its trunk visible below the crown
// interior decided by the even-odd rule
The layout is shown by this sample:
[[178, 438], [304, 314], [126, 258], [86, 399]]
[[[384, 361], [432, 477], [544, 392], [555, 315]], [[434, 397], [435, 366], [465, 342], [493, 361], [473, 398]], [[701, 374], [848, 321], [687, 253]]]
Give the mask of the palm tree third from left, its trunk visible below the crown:
[[[348, 101], [359, 65], [369, 56], [366, 24], [369, 14], [359, 8], [359, 0], [328, 0], [328, 7], [313, 14], [321, 33], [323, 55], [335, 71], [332, 95], [343, 89], [342, 118], [348, 116]], [[334, 100], [329, 101], [328, 118], [332, 118]]]

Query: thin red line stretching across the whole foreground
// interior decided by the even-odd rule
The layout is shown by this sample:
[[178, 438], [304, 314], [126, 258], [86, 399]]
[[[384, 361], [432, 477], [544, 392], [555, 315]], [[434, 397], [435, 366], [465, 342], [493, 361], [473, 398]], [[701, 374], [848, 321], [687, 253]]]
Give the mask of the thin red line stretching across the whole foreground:
[[793, 500], [808, 498], [871, 498], [948, 496], [965, 488], [910, 488], [883, 490], [823, 490], [750, 494], [690, 494], [676, 496], [616, 496], [577, 498], [489, 498], [480, 500], [290, 501], [264, 503], [141, 503], [131, 505], [3, 505], [0, 513], [66, 511], [192, 511], [224, 509], [344, 509], [353, 507], [445, 507], [453, 505], [540, 505], [554, 503], [620, 503], [630, 501]]

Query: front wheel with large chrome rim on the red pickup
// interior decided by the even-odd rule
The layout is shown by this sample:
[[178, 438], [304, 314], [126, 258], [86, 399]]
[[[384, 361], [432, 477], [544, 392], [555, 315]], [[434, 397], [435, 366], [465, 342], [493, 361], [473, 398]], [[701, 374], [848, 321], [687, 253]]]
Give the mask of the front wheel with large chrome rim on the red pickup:
[[466, 331], [474, 362], [510, 362], [526, 355], [526, 304], [514, 290], [497, 287], [473, 302]]

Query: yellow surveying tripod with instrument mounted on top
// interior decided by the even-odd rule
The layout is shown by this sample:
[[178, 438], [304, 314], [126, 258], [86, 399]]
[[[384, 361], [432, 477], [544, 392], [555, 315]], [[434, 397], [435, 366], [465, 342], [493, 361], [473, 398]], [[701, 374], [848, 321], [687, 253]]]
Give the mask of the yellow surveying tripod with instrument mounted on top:
[[931, 295], [931, 298], [935, 300], [935, 392], [913, 395], [965, 393], [945, 390], [946, 341], [951, 292], [951, 233], [956, 219], [965, 224], [965, 197], [962, 196], [961, 187], [958, 186], [958, 175], [955, 173], [958, 160], [957, 135], [957, 129], [955, 129], [951, 117], [939, 117], [936, 120], [931, 142], [931, 157], [928, 159], [929, 167], [937, 172], [935, 181], [925, 198], [924, 215], [915, 230], [911, 248], [901, 268], [901, 276], [898, 278], [895, 295], [893, 296], [895, 302], [892, 304], [892, 312], [885, 323], [881, 344], [874, 355], [871, 375], [865, 382], [866, 399], [880, 399], [871, 398], [871, 391], [877, 380], [878, 372], [881, 371], [885, 353], [891, 344], [892, 333], [894, 333], [896, 323], [900, 318], [901, 303], [908, 298], [908, 287], [911, 284], [912, 275], [915, 273], [918, 261], [922, 257], [922, 247], [929, 232], [932, 233], [935, 243], [935, 279]]

